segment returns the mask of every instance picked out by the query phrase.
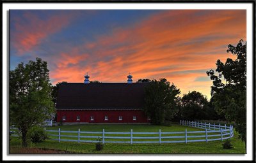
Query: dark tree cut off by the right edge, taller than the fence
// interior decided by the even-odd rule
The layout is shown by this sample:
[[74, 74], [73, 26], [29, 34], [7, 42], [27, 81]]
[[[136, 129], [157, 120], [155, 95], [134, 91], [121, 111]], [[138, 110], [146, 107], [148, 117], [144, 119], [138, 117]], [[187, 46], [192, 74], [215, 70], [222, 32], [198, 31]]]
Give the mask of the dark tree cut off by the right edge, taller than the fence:
[[[223, 113], [228, 122], [234, 122], [239, 138], [246, 140], [246, 42], [237, 46], [228, 45], [227, 52], [236, 55], [236, 60], [228, 58], [223, 64], [216, 62], [216, 72], [211, 69], [207, 75], [212, 80], [211, 95], [218, 113]], [[224, 82], [223, 82], [224, 80]]]

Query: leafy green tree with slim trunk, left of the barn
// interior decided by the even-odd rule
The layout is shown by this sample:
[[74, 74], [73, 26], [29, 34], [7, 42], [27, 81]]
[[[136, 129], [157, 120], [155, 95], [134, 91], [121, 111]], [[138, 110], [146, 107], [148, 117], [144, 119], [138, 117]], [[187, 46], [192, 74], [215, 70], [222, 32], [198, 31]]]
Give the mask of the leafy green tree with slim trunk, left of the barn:
[[10, 71], [10, 121], [22, 134], [22, 146], [28, 146], [27, 133], [54, 112], [47, 62], [36, 58], [21, 62]]

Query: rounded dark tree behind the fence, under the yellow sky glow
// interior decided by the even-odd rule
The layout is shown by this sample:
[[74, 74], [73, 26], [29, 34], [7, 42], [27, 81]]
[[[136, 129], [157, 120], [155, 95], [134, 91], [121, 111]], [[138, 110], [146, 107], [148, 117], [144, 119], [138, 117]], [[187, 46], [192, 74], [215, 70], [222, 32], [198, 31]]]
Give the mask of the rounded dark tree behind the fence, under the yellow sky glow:
[[200, 92], [189, 92], [181, 99], [181, 116], [185, 120], [205, 120], [209, 119], [207, 114], [210, 111], [207, 98]]

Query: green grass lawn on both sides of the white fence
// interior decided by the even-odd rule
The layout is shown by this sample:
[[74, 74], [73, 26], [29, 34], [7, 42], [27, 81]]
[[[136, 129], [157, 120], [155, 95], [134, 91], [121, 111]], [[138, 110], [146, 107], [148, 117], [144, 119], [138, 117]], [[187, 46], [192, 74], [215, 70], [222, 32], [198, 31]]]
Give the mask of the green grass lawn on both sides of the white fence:
[[[59, 127], [47, 127], [47, 129], [57, 130]], [[172, 125], [159, 126], [159, 125], [63, 125], [60, 126], [61, 131], [102, 131], [105, 129], [106, 132], [129, 132], [131, 129], [133, 132], [158, 132], [161, 129], [162, 132], [172, 132], [172, 131], [201, 131], [201, 129], [196, 129], [188, 126]], [[55, 133], [57, 134], [57, 133]], [[66, 133], [65, 133], [66, 134]], [[68, 133], [72, 134], [72, 133]], [[111, 135], [111, 134], [109, 134]], [[143, 136], [143, 135], [141, 135]], [[154, 136], [154, 135], [150, 135]], [[62, 137], [61, 137], [62, 139]], [[68, 138], [70, 139], [70, 138]], [[76, 139], [76, 138], [74, 138]], [[194, 138], [195, 139], [195, 138]], [[202, 139], [202, 138], [201, 138]], [[173, 139], [172, 139], [173, 140]], [[234, 138], [232, 140], [232, 145], [234, 148], [227, 150], [222, 148], [221, 141], [209, 141], [206, 142], [195, 142], [195, 143], [164, 143], [159, 145], [156, 144], [115, 144], [106, 143], [102, 151], [95, 150], [95, 143], [80, 143], [77, 142], [64, 142], [52, 141], [47, 139], [43, 143], [33, 144], [33, 148], [48, 148], [54, 150], [65, 150], [68, 152], [76, 153], [245, 153], [245, 144], [237, 138], [237, 133], [235, 132]], [[119, 140], [120, 141], [120, 140]], [[129, 140], [127, 140], [129, 141]], [[149, 140], [148, 140], [149, 141]], [[21, 141], [18, 138], [12, 138], [10, 142], [11, 147], [15, 147], [15, 153], [17, 148], [21, 147]], [[10, 151], [12, 152], [12, 150]]]

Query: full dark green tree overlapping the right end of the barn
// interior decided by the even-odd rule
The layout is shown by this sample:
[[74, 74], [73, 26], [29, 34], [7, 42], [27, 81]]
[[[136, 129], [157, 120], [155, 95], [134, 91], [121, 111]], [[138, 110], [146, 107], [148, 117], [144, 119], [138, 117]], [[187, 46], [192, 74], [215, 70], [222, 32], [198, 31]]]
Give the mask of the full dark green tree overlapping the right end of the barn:
[[166, 79], [152, 80], [145, 88], [145, 113], [153, 124], [163, 125], [177, 112], [177, 95], [180, 90]]

